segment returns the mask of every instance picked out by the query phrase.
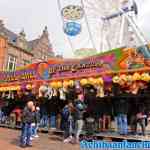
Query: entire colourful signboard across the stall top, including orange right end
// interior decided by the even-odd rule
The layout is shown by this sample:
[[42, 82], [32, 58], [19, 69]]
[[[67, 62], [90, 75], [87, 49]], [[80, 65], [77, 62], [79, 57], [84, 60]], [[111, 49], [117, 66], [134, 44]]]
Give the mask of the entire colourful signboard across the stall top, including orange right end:
[[137, 49], [124, 48], [84, 59], [51, 59], [15, 72], [0, 72], [0, 82], [74, 79], [141, 68], [150, 68], [150, 59], [145, 58]]

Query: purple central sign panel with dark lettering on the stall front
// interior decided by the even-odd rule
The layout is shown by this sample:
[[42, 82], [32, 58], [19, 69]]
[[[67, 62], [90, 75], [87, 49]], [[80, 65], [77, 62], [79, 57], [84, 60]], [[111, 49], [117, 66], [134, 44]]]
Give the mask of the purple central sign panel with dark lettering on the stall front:
[[92, 59], [83, 59], [75, 63], [65, 62], [64, 64], [50, 65], [49, 74], [54, 79], [99, 74], [114, 69], [115, 59], [115, 54], [112, 53], [101, 57], [93, 57]]

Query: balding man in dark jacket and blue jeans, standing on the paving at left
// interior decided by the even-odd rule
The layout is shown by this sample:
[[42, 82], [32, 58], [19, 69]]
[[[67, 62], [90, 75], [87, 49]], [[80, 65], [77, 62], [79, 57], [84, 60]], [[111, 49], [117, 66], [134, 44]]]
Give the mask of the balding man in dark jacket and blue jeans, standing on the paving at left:
[[35, 115], [32, 112], [34, 104], [32, 101], [28, 101], [26, 107], [23, 110], [22, 114], [22, 131], [21, 131], [21, 147], [32, 146], [31, 145], [31, 124], [35, 120]]

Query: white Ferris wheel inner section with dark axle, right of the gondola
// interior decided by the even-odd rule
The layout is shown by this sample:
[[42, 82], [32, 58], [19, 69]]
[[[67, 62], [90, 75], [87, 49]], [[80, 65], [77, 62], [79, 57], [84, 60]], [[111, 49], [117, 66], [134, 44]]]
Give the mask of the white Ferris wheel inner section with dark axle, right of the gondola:
[[[137, 45], [143, 36], [136, 24], [138, 15], [134, 0], [81, 0], [99, 52]], [[136, 32], [136, 33], [135, 33]], [[99, 37], [99, 38], [97, 38]], [[142, 41], [144, 41], [142, 39]]]

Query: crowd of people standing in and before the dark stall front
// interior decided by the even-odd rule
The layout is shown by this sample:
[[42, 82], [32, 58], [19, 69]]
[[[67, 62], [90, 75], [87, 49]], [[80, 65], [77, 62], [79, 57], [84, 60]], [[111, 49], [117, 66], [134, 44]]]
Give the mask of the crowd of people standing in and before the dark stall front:
[[120, 135], [138, 134], [137, 124], [145, 135], [150, 112], [149, 90], [147, 86], [135, 95], [114, 85], [111, 92], [105, 91], [104, 97], [99, 97], [91, 85], [82, 89], [69, 87], [65, 96], [57, 90], [51, 97], [26, 91], [14, 96], [15, 105], [11, 101], [11, 107], [7, 105], [7, 109], [1, 110], [9, 115], [18, 112], [14, 111], [16, 107], [22, 110], [16, 120], [22, 125], [22, 147], [31, 146], [31, 140], [38, 137], [39, 127], [63, 130], [65, 143], [78, 143], [83, 130], [90, 134], [112, 131], [112, 121], [116, 122]]

